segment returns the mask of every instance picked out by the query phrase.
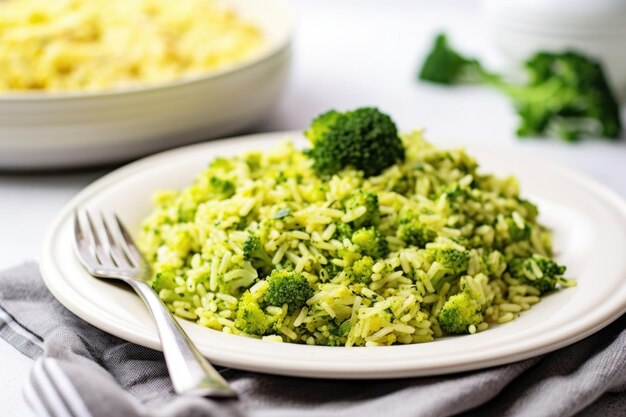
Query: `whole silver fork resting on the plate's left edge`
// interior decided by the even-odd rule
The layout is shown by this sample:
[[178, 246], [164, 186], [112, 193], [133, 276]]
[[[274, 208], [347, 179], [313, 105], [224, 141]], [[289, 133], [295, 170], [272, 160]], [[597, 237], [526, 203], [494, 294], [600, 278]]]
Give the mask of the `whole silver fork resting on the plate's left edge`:
[[156, 323], [165, 362], [178, 394], [236, 397], [237, 393], [198, 352], [159, 296], [147, 284], [151, 268], [116, 215], [93, 216], [74, 212], [74, 238], [78, 257], [98, 278], [128, 284], [146, 303]]

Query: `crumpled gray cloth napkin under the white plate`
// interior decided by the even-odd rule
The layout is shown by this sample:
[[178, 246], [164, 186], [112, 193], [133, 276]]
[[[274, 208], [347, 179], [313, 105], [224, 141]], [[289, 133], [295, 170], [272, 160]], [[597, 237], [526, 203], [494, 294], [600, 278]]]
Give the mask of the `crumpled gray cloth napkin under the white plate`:
[[430, 378], [334, 381], [221, 368], [240, 399], [210, 400], [174, 395], [160, 352], [69, 312], [36, 264], [0, 273], [0, 336], [35, 360], [24, 394], [40, 415], [60, 406], [54, 388], [70, 415], [86, 417], [623, 416], [625, 328], [622, 316], [542, 357]]

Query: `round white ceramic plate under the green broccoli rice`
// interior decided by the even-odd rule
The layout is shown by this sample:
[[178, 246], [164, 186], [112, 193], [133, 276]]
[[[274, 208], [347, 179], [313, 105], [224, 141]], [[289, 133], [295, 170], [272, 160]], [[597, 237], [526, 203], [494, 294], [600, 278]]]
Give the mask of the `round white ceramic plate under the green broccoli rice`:
[[[266, 149], [288, 136], [270, 133], [209, 142], [142, 159], [96, 181], [59, 214], [45, 240], [41, 270], [48, 288], [89, 323], [128, 341], [159, 348], [147, 310], [129, 290], [89, 276], [73, 250], [76, 207], [115, 211], [132, 230], [151, 210], [155, 189], [189, 184], [212, 158]], [[297, 140], [302, 138], [293, 134]], [[322, 347], [229, 335], [182, 321], [214, 363], [259, 372], [326, 378], [444, 374], [518, 361], [573, 343], [626, 311], [626, 203], [585, 177], [534, 158], [468, 149], [483, 170], [519, 177], [554, 230], [558, 259], [578, 286], [559, 291], [517, 320], [469, 336], [391, 347]]]

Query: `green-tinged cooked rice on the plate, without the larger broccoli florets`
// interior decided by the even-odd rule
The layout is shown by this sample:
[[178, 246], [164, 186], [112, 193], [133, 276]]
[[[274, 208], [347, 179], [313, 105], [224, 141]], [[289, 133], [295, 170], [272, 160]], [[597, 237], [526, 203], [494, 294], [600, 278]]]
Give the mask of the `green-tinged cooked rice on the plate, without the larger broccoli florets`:
[[[511, 257], [552, 252], [550, 234], [536, 222], [534, 206], [520, 198], [517, 180], [479, 173], [465, 151], [435, 148], [420, 131], [402, 140], [405, 162], [367, 179], [351, 169], [320, 179], [308, 157], [286, 141], [267, 152], [218, 159], [189, 187], [157, 193], [140, 245], [156, 273], [176, 275], [177, 287], [162, 289], [160, 297], [180, 317], [242, 334], [234, 325], [238, 297], [245, 289], [253, 295], [267, 289], [265, 277], [243, 257], [243, 242], [254, 233], [262, 236], [274, 265], [302, 273], [315, 290], [305, 307], [287, 315], [263, 340], [380, 346], [443, 336], [437, 316], [446, 299], [459, 292], [459, 283], [433, 284], [441, 274], [441, 265], [429, 260], [436, 248], [469, 251], [465, 281], [487, 305], [484, 321], [471, 325], [469, 333], [514, 320], [539, 302], [536, 288], [505, 273]], [[234, 194], [209, 193], [215, 178], [232, 182]], [[339, 202], [358, 189], [377, 194], [379, 227], [391, 248], [376, 261], [368, 285], [346, 278], [346, 260], [338, 254], [354, 250], [348, 239], [337, 236], [338, 222], [364, 214], [364, 207], [346, 212]], [[453, 204], [442, 190], [460, 190], [468, 197]], [[399, 239], [396, 222], [402, 210], [416, 213], [437, 232], [436, 240], [418, 248]], [[520, 229], [530, 227], [530, 235], [498, 251], [494, 242], [510, 240], [505, 217]], [[541, 274], [536, 267], [527, 271], [531, 278]], [[223, 283], [233, 283], [233, 290], [219, 292]], [[285, 313], [280, 307], [267, 310]], [[349, 330], [342, 334], [340, 325], [346, 322]]]

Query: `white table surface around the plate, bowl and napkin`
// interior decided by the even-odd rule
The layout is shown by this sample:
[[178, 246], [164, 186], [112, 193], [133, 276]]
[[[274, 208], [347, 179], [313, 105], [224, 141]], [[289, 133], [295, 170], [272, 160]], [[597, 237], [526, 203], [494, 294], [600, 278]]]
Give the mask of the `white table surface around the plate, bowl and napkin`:
[[[575, 145], [522, 141], [513, 135], [515, 114], [499, 94], [415, 81], [423, 53], [442, 29], [461, 50], [498, 62], [476, 1], [301, 0], [297, 8], [292, 77], [281, 103], [257, 131], [301, 129], [332, 107], [376, 105], [402, 130], [423, 126], [433, 141], [480, 143], [536, 155], [586, 173], [626, 196], [626, 140]], [[37, 259], [56, 213], [105, 172], [0, 173], [0, 270]], [[0, 416], [32, 415], [21, 395], [30, 365], [0, 339]]]

